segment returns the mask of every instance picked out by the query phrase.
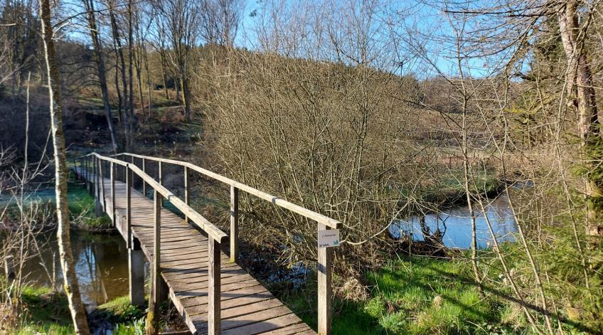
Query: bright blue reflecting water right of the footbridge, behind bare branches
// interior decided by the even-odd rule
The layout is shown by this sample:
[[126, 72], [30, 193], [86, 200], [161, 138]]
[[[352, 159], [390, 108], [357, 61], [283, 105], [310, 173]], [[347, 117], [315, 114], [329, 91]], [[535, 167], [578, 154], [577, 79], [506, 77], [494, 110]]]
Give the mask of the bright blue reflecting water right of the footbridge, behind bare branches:
[[[476, 233], [478, 248], [489, 248], [492, 238], [486, 223], [484, 212], [476, 211]], [[513, 241], [513, 233], [517, 231], [517, 225], [511, 208], [508, 205], [508, 196], [501, 194], [486, 206], [485, 215], [490, 220], [496, 239], [499, 242]], [[399, 220], [389, 228], [393, 238], [400, 235], [412, 234], [412, 239], [424, 240], [421, 230], [421, 217], [415, 216], [408, 220]], [[425, 215], [425, 226], [433, 234], [437, 230], [443, 233], [442, 242], [448, 248], [471, 248], [471, 216], [469, 208], [461, 206], [443, 211], [443, 213], [429, 213]], [[424, 226], [424, 228], [425, 228]]]

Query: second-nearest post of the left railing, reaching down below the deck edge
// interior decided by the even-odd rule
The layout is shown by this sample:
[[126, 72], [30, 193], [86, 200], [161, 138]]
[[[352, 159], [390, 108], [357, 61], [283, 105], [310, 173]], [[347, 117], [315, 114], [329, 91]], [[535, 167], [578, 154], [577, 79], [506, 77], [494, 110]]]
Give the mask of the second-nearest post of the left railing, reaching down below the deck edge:
[[156, 189], [153, 193], [153, 268], [151, 272], [151, 294], [149, 313], [146, 314], [146, 334], [159, 332], [159, 304], [161, 302], [161, 201], [162, 196]]

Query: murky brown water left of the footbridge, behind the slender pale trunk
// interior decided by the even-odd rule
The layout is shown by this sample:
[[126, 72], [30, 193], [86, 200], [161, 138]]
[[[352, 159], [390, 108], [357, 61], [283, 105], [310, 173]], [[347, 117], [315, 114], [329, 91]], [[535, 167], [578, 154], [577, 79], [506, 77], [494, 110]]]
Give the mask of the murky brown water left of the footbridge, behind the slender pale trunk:
[[[27, 280], [33, 285], [50, 287], [55, 282], [60, 289], [62, 276], [56, 235], [48, 233], [41, 240], [45, 244], [41, 257], [28, 260], [23, 273], [28, 274]], [[128, 293], [127, 248], [121, 236], [72, 230], [71, 243], [80, 292], [87, 307]]]

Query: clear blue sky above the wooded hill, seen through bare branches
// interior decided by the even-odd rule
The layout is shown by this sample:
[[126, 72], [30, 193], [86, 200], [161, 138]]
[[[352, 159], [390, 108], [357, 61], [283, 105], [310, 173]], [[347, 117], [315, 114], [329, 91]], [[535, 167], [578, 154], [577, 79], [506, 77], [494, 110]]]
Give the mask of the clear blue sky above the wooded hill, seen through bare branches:
[[[301, 15], [306, 18], [307, 11], [324, 10], [324, 5], [329, 4], [329, 9], [337, 11], [337, 14], [346, 16], [344, 11], [361, 11], [362, 4], [369, 4], [370, 1], [278, 1], [278, 0], [248, 0], [245, 4], [242, 23], [238, 33], [237, 46], [249, 49], [257, 49], [257, 35], [254, 27], [262, 20], [265, 13], [265, 7], [272, 8], [274, 11], [290, 11], [295, 15]], [[484, 1], [457, 2], [454, 6], [487, 6]], [[383, 43], [383, 39], [395, 36], [400, 41], [396, 43], [397, 52], [385, 52], [383, 60], [380, 60], [380, 67], [392, 66], [392, 69], [400, 74], [413, 73], [418, 77], [431, 77], [438, 74], [438, 71], [450, 76], [458, 75], [459, 67], [457, 65], [456, 50], [454, 46], [453, 27], [457, 29], [464, 28], [464, 31], [477, 31], [481, 25], [490, 24], [484, 21], [484, 18], [470, 18], [464, 26], [455, 18], [460, 16], [445, 15], [442, 11], [444, 1], [382, 1], [376, 9], [375, 31], [371, 38], [375, 44]], [[309, 10], [303, 11], [301, 7]], [[257, 13], [251, 17], [252, 12]], [[320, 14], [319, 14], [320, 15]], [[326, 16], [331, 16], [327, 13]], [[265, 17], [264, 17], [265, 18]], [[265, 21], [270, 22], [270, 19]], [[492, 24], [496, 22], [491, 22]], [[345, 26], [341, 27], [345, 29]], [[304, 29], [304, 28], [300, 28]], [[294, 33], [294, 31], [292, 31]], [[492, 31], [491, 33], [500, 33], [501, 31]], [[382, 46], [385, 48], [385, 46]], [[379, 46], [375, 47], [379, 49]], [[381, 50], [383, 50], [383, 48]], [[474, 78], [481, 78], [490, 75], [488, 68], [500, 68], [509, 57], [506, 53], [498, 53], [483, 57], [466, 58], [463, 63], [464, 75]], [[474, 53], [476, 55], [476, 53]], [[418, 56], [421, 55], [421, 56]], [[389, 58], [389, 60], [388, 60]], [[390, 62], [390, 65], [387, 63]], [[402, 64], [402, 67], [396, 68], [395, 64]], [[390, 69], [390, 70], [392, 70]]]

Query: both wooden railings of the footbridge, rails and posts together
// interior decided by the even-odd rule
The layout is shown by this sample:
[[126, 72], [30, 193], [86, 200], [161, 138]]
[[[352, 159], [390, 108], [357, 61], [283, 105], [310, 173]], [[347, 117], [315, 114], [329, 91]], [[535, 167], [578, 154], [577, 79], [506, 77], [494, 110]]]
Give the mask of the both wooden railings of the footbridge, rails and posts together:
[[[90, 165], [92, 164], [92, 169], [94, 169], [94, 171], [99, 171], [99, 174], [102, 174], [102, 164], [99, 164], [100, 161], [107, 161], [111, 163], [111, 171], [113, 171], [113, 165], [114, 164], [118, 164], [118, 165], [122, 165], [122, 166], [126, 166], [127, 169], [129, 169], [130, 171], [132, 171], [133, 173], [137, 174], [138, 176], [141, 176], [142, 178], [142, 188], [143, 188], [143, 193], [146, 195], [146, 188], [147, 185], [151, 186], [152, 188], [154, 188], [155, 190], [155, 198], [158, 198], [158, 194], [159, 196], [162, 196], [164, 198], [168, 198], [169, 201], [171, 201], [171, 203], [174, 204], [174, 206], [176, 208], [178, 208], [178, 210], [180, 210], [186, 220], [189, 223], [193, 223], [195, 225], [197, 225], [198, 227], [200, 227], [201, 229], [205, 230], [208, 235], [211, 236], [210, 240], [210, 250], [213, 250], [213, 252], [210, 252], [210, 269], [211, 272], [214, 272], [213, 274], [210, 274], [210, 278], [214, 278], [213, 280], [216, 282], [217, 288], [214, 285], [213, 289], [210, 289], [210, 307], [213, 301], [213, 308], [210, 308], [210, 313], [213, 314], [213, 317], [208, 316], [208, 320], [210, 320], [210, 322], [213, 320], [213, 318], [216, 318], [214, 320], [214, 324], [213, 326], [216, 326], [216, 323], [218, 324], [217, 327], [219, 329], [219, 324], [220, 324], [220, 257], [219, 257], [219, 252], [220, 252], [220, 243], [222, 243], [222, 240], [225, 238], [225, 234], [219, 230], [217, 227], [215, 227], [215, 225], [212, 225], [211, 223], [208, 222], [208, 220], [206, 220], [206, 218], [203, 218], [203, 216], [201, 216], [200, 214], [198, 214], [196, 211], [193, 211], [193, 209], [189, 206], [190, 205], [190, 201], [191, 201], [191, 171], [196, 171], [199, 174], [203, 174], [204, 176], [207, 176], [211, 179], [214, 179], [216, 181], [220, 181], [223, 184], [227, 184], [230, 186], [230, 260], [232, 262], [237, 262], [238, 261], [238, 244], [239, 244], [239, 238], [238, 238], [238, 232], [239, 232], [239, 191], [244, 191], [252, 196], [256, 196], [257, 198], [261, 198], [265, 201], [269, 201], [270, 203], [274, 204], [275, 206], [279, 206], [281, 208], [285, 208], [289, 211], [292, 211], [293, 213], [297, 213], [301, 216], [304, 216], [305, 218], [309, 218], [311, 220], [316, 221], [317, 223], [317, 233], [319, 230], [328, 230], [328, 229], [338, 229], [341, 225], [341, 223], [338, 220], [333, 220], [332, 218], [329, 218], [328, 216], [324, 216], [320, 213], [316, 213], [314, 211], [310, 211], [307, 208], [298, 206], [294, 203], [290, 203], [289, 201], [286, 201], [282, 198], [278, 198], [277, 196], [272, 196], [269, 193], [265, 193], [263, 191], [260, 191], [256, 188], [252, 188], [251, 186], [247, 186], [245, 184], [241, 184], [238, 181], [234, 181], [233, 179], [229, 179], [225, 176], [221, 176], [220, 174], [215, 174], [212, 171], [203, 169], [199, 166], [196, 166], [194, 164], [188, 163], [186, 161], [176, 161], [174, 159], [161, 159], [161, 158], [157, 158], [157, 157], [152, 157], [152, 156], [142, 156], [139, 154], [130, 154], [130, 153], [122, 153], [122, 154], [117, 154], [117, 155], [112, 155], [115, 157], [119, 157], [122, 156], [122, 160], [119, 159], [112, 159], [110, 157], [106, 157], [106, 156], [100, 156], [99, 154], [88, 154], [86, 156], [82, 156], [80, 158], [80, 164], [82, 166], [84, 166], [85, 171], [90, 171]], [[90, 157], [94, 157], [94, 159], [92, 159], [92, 162], [90, 161]], [[127, 157], [129, 157], [129, 159], [127, 159]], [[139, 169], [136, 166], [136, 159], [141, 160], [142, 163], [142, 169]], [[126, 162], [126, 161], [129, 162]], [[159, 182], [155, 181], [154, 179], [152, 179], [150, 176], [148, 176], [146, 174], [146, 164], [149, 161], [155, 161], [157, 163], [157, 169], [159, 171]], [[118, 163], [119, 162], [119, 163]], [[174, 196], [173, 193], [171, 193], [170, 191], [168, 191], [166, 188], [164, 188], [164, 186], [161, 185], [162, 182], [162, 171], [163, 171], [163, 164], [173, 164], [173, 165], [178, 165], [178, 166], [183, 166], [184, 168], [184, 201], [181, 201], [179, 198], [177, 198], [176, 196]], [[98, 185], [98, 176], [99, 174], [97, 174], [97, 182], [95, 183], [96, 185]], [[111, 174], [111, 180], [112, 180], [112, 185], [114, 184], [114, 178], [113, 178], [113, 174]], [[131, 183], [131, 178], [127, 178], [127, 181], [129, 181], [129, 183]], [[131, 184], [128, 184], [129, 186]], [[105, 193], [105, 189], [104, 186], [102, 185], [102, 183], [100, 184], [101, 189], [96, 190], [97, 195], [100, 196], [100, 193], [102, 192], [103, 194]], [[128, 187], [129, 189], [130, 187]], [[114, 186], [112, 186], [112, 196], [114, 196]], [[128, 196], [129, 197], [129, 196]], [[99, 197], [100, 198], [100, 197]], [[103, 196], [103, 201], [105, 199], [105, 197]], [[161, 203], [159, 203], [159, 205], [157, 205], [158, 201], [155, 201], [156, 203], [156, 208], [160, 208], [161, 207]], [[159, 206], [159, 207], [158, 207]], [[129, 210], [128, 210], [129, 213]], [[129, 216], [128, 216], [129, 217]], [[156, 236], [159, 236], [159, 211], [156, 211]], [[128, 219], [129, 220], [129, 219]], [[130, 223], [128, 222], [128, 226], [130, 225]], [[129, 229], [129, 228], [128, 228]], [[159, 240], [156, 240], [159, 241]], [[156, 243], [157, 245], [159, 245], [159, 243]], [[159, 247], [158, 247], [159, 248]], [[318, 262], [317, 262], [317, 277], [318, 277], [318, 332], [319, 334], [331, 334], [331, 296], [332, 296], [332, 289], [331, 289], [331, 267], [332, 267], [332, 248], [318, 248]], [[159, 255], [159, 252], [156, 252], [155, 255]], [[213, 263], [212, 263], [212, 259], [213, 259]], [[159, 262], [154, 262], [154, 265], [156, 263], [156, 269], [159, 269]], [[217, 264], [217, 265], [216, 265]], [[217, 272], [215, 272], [217, 271]], [[210, 286], [212, 287], [212, 286]], [[217, 289], [217, 291], [216, 291]], [[213, 291], [213, 292], [211, 292]], [[218, 297], [218, 299], [216, 300], [215, 297]], [[211, 329], [211, 327], [210, 327]]]

